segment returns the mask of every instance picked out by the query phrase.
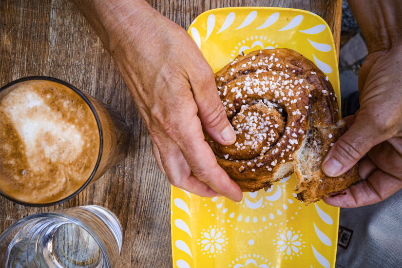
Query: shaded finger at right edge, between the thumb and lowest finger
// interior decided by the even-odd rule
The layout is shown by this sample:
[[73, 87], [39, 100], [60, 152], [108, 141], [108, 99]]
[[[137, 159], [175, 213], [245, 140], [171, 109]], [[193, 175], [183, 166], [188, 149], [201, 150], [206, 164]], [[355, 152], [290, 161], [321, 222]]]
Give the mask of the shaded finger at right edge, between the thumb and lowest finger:
[[381, 170], [402, 178], [402, 148], [401, 138], [391, 138], [374, 146], [367, 155]]

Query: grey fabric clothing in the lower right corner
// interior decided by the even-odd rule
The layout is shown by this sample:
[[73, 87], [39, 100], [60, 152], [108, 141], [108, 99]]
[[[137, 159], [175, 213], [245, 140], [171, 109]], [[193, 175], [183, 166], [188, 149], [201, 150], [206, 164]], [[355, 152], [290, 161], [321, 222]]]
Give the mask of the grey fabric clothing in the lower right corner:
[[383, 202], [341, 209], [339, 225], [353, 234], [338, 246], [336, 268], [402, 268], [402, 190]]

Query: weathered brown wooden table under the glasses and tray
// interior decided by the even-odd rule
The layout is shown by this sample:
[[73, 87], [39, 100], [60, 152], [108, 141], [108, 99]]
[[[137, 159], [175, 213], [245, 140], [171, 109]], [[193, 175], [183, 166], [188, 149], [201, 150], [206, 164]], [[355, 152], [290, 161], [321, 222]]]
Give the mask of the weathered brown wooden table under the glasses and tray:
[[[230, 6], [306, 9], [332, 29], [337, 51], [341, 0], [149, 0], [187, 29], [202, 12]], [[67, 0], [0, 1], [0, 86], [26, 76], [57, 77], [115, 108], [133, 137], [124, 161], [64, 204], [20, 206], [0, 197], [0, 232], [20, 218], [43, 211], [95, 204], [114, 212], [123, 229], [118, 268], [172, 267], [170, 184], [159, 172], [151, 142], [115, 62], [77, 8]]]

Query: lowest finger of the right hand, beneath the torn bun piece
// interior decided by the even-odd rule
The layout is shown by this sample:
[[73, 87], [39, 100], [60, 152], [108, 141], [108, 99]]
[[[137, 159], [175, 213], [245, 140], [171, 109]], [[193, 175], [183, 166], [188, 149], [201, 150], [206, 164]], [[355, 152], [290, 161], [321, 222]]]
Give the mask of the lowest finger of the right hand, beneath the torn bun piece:
[[383, 201], [402, 188], [402, 181], [388, 173], [376, 170], [371, 176], [345, 189], [345, 195], [325, 198], [328, 205], [355, 208]]

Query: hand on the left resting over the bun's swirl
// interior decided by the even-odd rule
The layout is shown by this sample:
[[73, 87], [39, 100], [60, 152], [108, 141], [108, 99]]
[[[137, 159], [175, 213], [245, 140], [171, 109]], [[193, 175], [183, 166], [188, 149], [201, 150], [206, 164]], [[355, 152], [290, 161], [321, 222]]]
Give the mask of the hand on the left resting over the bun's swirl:
[[210, 65], [183, 28], [145, 1], [117, 2], [111, 11], [92, 3], [99, 10], [86, 16], [133, 95], [159, 169], [176, 187], [240, 201], [239, 186], [217, 164], [202, 132], [201, 124], [223, 145], [236, 140]]

